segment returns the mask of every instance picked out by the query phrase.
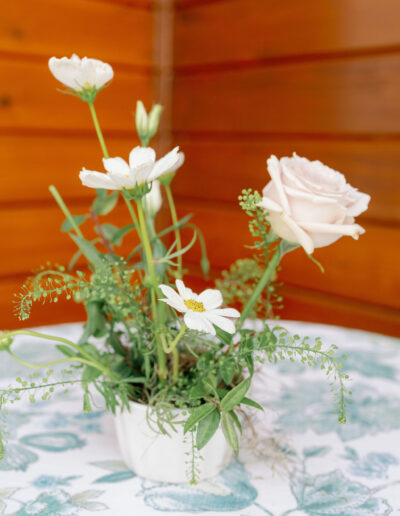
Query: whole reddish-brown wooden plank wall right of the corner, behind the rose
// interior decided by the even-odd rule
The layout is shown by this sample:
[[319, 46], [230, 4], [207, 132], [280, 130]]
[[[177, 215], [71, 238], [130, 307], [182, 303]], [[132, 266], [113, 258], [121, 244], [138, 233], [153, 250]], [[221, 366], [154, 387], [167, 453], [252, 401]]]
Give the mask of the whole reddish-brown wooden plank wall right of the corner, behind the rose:
[[300, 251], [285, 258], [283, 316], [400, 334], [399, 17], [395, 0], [176, 5], [175, 189], [216, 269], [249, 252], [234, 203], [268, 181], [270, 154], [320, 159], [372, 196], [358, 242], [315, 252], [324, 276]]

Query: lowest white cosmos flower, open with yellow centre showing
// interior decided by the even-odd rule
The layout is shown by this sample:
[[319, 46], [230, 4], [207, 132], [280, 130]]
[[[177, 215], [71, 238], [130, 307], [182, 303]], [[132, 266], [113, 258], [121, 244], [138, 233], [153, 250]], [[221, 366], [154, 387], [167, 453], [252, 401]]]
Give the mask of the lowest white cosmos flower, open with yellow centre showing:
[[166, 296], [160, 301], [184, 313], [183, 320], [188, 328], [215, 335], [215, 325], [228, 333], [235, 333], [235, 325], [228, 317], [237, 318], [240, 313], [234, 308], [220, 308], [223, 300], [219, 290], [208, 288], [197, 295], [179, 279], [176, 287], [178, 292], [168, 285], [160, 285]]

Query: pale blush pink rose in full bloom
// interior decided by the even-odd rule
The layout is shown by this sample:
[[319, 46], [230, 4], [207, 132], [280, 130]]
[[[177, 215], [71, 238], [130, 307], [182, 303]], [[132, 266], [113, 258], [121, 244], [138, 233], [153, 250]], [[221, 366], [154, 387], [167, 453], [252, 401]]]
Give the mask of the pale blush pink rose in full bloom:
[[370, 196], [349, 185], [343, 174], [295, 153], [280, 160], [271, 156], [267, 166], [271, 181], [260, 205], [281, 238], [311, 254], [343, 235], [358, 239], [365, 233], [354, 219], [368, 208]]

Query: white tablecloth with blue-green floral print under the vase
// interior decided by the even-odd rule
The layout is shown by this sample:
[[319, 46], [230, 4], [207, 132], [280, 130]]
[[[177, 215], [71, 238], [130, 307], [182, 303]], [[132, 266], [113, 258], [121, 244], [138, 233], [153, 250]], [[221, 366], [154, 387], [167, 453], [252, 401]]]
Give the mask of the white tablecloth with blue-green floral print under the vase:
[[[80, 388], [51, 401], [10, 406], [0, 462], [0, 514], [115, 516], [227, 513], [237, 516], [400, 515], [400, 342], [324, 325], [282, 323], [322, 337], [347, 355], [353, 401], [339, 425], [321, 371], [265, 365], [252, 393], [265, 406], [242, 438], [238, 459], [195, 487], [150, 482], [121, 460], [113, 419], [101, 407], [82, 412]], [[72, 340], [80, 325], [45, 328]], [[29, 342], [21, 350], [19, 343]], [[34, 361], [58, 351], [20, 337], [15, 349]], [[1, 355], [0, 385], [29, 371]], [[254, 422], [254, 421], [253, 421]]]

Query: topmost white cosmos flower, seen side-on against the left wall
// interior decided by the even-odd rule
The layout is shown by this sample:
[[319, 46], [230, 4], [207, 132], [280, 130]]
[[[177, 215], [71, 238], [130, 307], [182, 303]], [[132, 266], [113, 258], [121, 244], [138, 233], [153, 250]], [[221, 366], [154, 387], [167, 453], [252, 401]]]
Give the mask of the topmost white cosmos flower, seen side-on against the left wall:
[[87, 57], [80, 59], [76, 54], [61, 59], [51, 57], [49, 68], [58, 81], [76, 91], [86, 88], [99, 90], [114, 76], [113, 69], [108, 63]]

